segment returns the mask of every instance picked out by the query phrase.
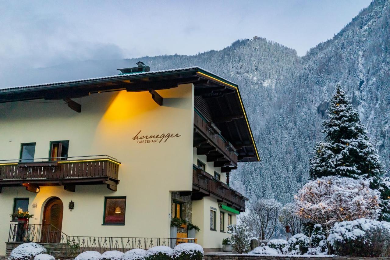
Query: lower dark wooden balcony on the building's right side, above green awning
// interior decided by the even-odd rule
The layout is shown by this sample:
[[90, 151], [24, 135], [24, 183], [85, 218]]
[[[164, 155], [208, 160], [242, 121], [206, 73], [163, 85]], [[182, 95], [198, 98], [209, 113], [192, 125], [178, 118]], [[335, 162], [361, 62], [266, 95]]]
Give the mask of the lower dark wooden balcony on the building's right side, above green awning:
[[241, 193], [230, 188], [225, 183], [195, 165], [193, 166], [192, 173], [193, 200], [202, 199], [205, 196], [213, 196], [218, 202], [227, 203], [229, 207], [234, 207], [239, 212], [245, 211], [245, 201], [248, 199]]

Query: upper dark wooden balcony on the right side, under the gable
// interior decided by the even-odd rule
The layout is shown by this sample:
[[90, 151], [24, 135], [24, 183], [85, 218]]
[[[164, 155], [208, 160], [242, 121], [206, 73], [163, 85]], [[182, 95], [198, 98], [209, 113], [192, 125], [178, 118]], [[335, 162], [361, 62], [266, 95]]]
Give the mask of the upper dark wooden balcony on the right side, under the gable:
[[223, 167], [223, 172], [237, 169], [236, 149], [212, 122], [207, 122], [197, 111], [194, 111], [194, 147], [198, 155], [207, 156], [207, 162], [214, 162], [214, 167]]

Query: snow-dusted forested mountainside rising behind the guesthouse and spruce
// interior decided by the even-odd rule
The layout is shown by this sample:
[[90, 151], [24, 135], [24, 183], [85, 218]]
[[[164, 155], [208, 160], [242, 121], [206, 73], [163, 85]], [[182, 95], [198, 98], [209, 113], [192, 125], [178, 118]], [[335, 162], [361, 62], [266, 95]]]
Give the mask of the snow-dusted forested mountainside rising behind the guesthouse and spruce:
[[[200, 66], [240, 86], [261, 163], [241, 164], [232, 185], [246, 196], [286, 203], [308, 178], [314, 143], [337, 83], [360, 112], [390, 172], [390, 0], [375, 0], [337, 35], [298, 57], [263, 38], [238, 40], [194, 56], [62, 64], [25, 71], [18, 84], [99, 77], [143, 61], [151, 70]], [[254, 31], [255, 31], [255, 25]], [[15, 74], [3, 76], [10, 81]]]

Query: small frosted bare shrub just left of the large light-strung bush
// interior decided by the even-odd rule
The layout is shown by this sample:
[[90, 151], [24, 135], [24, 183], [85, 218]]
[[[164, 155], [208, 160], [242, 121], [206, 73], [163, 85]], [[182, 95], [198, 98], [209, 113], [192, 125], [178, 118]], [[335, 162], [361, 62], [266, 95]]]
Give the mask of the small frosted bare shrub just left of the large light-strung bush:
[[282, 223], [284, 227], [290, 227], [290, 233], [292, 236], [298, 233], [302, 233], [304, 227], [303, 224], [307, 222], [306, 219], [301, 218], [295, 212], [295, 204], [287, 203], [282, 207], [279, 215], [280, 223]]

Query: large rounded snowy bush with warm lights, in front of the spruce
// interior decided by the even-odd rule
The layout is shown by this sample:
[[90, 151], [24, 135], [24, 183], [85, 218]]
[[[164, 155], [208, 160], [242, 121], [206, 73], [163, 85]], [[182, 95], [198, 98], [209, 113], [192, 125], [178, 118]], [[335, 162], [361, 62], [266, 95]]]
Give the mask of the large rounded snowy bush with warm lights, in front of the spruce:
[[380, 194], [369, 185], [368, 180], [337, 176], [309, 181], [294, 196], [296, 213], [327, 228], [344, 220], [376, 219], [381, 211]]

